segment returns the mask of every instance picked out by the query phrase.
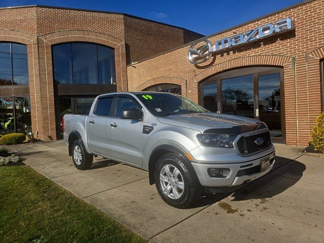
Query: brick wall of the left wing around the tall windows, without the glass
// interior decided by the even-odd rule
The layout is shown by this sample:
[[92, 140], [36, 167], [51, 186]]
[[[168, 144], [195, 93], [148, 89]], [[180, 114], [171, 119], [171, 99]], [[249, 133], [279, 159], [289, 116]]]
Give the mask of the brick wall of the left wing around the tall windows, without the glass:
[[56, 139], [52, 45], [90, 42], [114, 48], [116, 89], [127, 91], [127, 60], [147, 58], [200, 36], [117, 13], [20, 7], [0, 9], [0, 14], [0, 42], [27, 45], [32, 128], [44, 140]]

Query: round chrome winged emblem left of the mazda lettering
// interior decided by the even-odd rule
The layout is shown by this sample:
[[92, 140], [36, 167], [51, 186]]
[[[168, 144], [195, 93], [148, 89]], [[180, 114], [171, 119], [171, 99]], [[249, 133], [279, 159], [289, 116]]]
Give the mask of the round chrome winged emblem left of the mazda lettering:
[[[198, 44], [204, 43], [203, 46]], [[195, 48], [198, 46], [197, 48]], [[208, 39], [200, 39], [192, 43], [189, 47], [188, 59], [193, 64], [199, 64], [207, 61], [213, 53], [213, 46]]]

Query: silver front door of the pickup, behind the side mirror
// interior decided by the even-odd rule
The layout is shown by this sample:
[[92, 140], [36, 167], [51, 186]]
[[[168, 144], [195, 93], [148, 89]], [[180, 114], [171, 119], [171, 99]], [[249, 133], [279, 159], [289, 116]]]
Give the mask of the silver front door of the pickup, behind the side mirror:
[[121, 119], [122, 110], [140, 108], [131, 96], [117, 98], [114, 117], [109, 119], [109, 156], [135, 165], [142, 165], [143, 121]]

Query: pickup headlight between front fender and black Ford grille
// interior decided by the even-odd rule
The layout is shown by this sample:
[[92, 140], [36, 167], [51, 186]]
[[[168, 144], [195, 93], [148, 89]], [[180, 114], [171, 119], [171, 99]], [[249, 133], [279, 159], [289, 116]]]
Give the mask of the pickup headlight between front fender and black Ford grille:
[[197, 134], [198, 141], [205, 146], [219, 148], [233, 148], [237, 135], [231, 134]]

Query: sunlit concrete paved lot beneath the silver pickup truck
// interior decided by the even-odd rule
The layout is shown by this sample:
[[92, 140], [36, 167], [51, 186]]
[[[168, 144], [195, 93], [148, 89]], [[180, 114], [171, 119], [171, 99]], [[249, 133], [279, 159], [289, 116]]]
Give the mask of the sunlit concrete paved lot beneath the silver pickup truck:
[[151, 242], [323, 242], [324, 158], [276, 144], [274, 170], [231, 194], [200, 198], [191, 209], [160, 199], [148, 174], [96, 158], [74, 168], [63, 141], [13, 146], [24, 163]]

